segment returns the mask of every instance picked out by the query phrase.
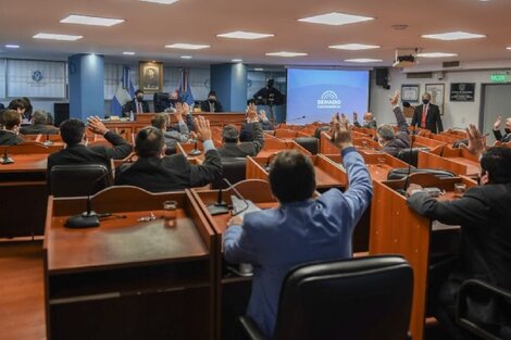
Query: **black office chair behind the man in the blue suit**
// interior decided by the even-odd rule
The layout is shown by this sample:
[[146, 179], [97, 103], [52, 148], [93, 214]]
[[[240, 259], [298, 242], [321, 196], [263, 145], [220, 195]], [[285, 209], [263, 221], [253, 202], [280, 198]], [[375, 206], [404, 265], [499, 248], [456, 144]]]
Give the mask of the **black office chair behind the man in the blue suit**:
[[[404, 340], [413, 270], [399, 256], [359, 257], [292, 269], [281, 291], [274, 340]], [[262, 340], [248, 316], [247, 339]]]

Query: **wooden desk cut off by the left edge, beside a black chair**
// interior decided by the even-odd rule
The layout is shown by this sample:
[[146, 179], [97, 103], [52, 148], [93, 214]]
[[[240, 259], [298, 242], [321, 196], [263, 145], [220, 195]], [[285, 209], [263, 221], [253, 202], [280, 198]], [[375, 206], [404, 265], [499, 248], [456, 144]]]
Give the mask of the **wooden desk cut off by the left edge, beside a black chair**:
[[48, 202], [48, 154], [10, 156], [13, 164], [0, 165], [0, 238], [42, 235]]

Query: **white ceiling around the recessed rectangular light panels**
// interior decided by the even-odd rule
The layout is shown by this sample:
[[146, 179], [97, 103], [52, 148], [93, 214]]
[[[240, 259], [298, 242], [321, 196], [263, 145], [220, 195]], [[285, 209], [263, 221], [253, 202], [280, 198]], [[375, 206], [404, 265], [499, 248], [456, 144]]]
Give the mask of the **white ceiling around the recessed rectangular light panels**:
[[[375, 17], [346, 26], [298, 22], [298, 18], [342, 12]], [[113, 27], [61, 24], [68, 14], [125, 18]], [[128, 60], [157, 60], [176, 64], [230, 62], [241, 58], [248, 64], [347, 65], [345, 59], [375, 58], [390, 65], [396, 48], [422, 48], [423, 52], [452, 52], [459, 56], [441, 61], [510, 60], [510, 0], [180, 0], [171, 5], [137, 0], [0, 0], [0, 56], [58, 58], [75, 53], [98, 53]], [[391, 28], [409, 25], [406, 30]], [[247, 30], [274, 34], [261, 40], [217, 38], [217, 34]], [[466, 41], [439, 41], [421, 38], [423, 34], [466, 30], [487, 38]], [[36, 40], [39, 33], [84, 36], [75, 42]], [[165, 49], [165, 45], [191, 42], [211, 45], [200, 51]], [[381, 49], [340, 51], [328, 49], [339, 43], [379, 45]], [[8, 50], [5, 43], [17, 43]], [[283, 59], [266, 52], [307, 52], [308, 56]], [[192, 55], [184, 61], [179, 55]], [[438, 60], [422, 59], [421, 63]], [[352, 65], [352, 64], [351, 64]]]

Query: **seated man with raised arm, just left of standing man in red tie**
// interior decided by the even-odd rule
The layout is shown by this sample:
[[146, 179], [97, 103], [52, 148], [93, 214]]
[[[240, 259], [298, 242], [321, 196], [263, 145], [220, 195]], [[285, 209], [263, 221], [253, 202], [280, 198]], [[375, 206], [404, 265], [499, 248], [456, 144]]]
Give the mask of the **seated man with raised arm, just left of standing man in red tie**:
[[383, 147], [381, 151], [392, 156], [396, 156], [399, 153], [399, 150], [410, 148], [407, 119], [404, 118], [404, 114], [402, 113], [398, 102], [399, 91], [396, 91], [390, 99], [390, 104], [394, 108], [392, 111], [398, 122], [399, 131], [397, 134], [394, 133], [394, 127], [388, 124], [383, 124], [376, 129], [378, 143]]

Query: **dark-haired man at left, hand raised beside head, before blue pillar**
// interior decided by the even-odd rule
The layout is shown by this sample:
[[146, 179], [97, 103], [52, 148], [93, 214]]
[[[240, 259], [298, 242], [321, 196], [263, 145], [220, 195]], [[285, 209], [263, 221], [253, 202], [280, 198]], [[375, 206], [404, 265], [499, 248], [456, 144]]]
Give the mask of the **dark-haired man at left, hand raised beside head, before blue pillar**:
[[48, 175], [54, 165], [104, 164], [110, 169], [112, 159], [123, 160], [132, 152], [132, 146], [117, 134], [110, 131], [100, 118], [89, 117], [87, 127], [90, 131], [102, 135], [113, 148], [87, 147], [85, 124], [74, 118], [64, 121], [60, 125], [60, 134], [65, 149], [48, 156]]

